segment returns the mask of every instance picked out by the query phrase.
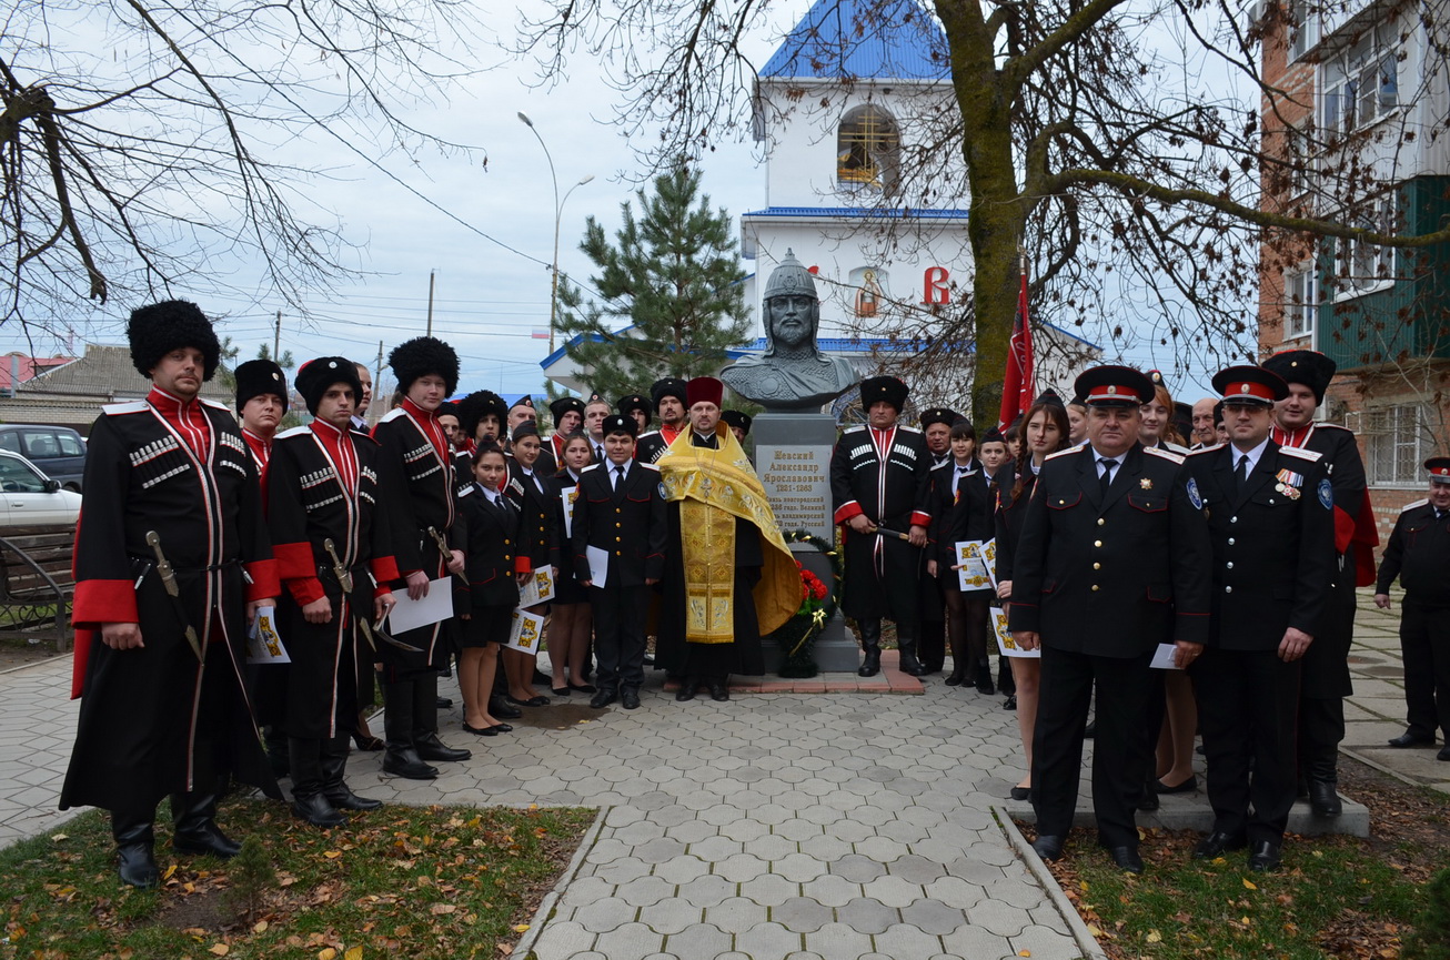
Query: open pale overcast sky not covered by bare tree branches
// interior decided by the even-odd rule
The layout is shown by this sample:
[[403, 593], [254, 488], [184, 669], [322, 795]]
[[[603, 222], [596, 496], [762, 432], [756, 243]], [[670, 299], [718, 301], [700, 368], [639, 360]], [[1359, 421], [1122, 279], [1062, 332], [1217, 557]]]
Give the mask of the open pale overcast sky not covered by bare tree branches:
[[[751, 41], [757, 65], [764, 64], [808, 4], [800, 0], [767, 9], [774, 20], [763, 25]], [[471, 78], [447, 107], [409, 115], [416, 126], [477, 144], [487, 154], [486, 168], [457, 155], [426, 151], [416, 162], [402, 155], [384, 160], [409, 187], [452, 216], [332, 144], [315, 139], [304, 145], [309, 162], [332, 170], [332, 178], [316, 181], [309, 196], [341, 216], [345, 235], [358, 245], [358, 252], [349, 254], [351, 265], [371, 276], [316, 297], [309, 303], [309, 320], [284, 310], [283, 349], [290, 349], [299, 361], [344, 354], [374, 365], [378, 341], [386, 352], [425, 331], [428, 278], [435, 270], [434, 334], [458, 349], [461, 387], [541, 392], [538, 364], [548, 344], [532, 334], [548, 328], [554, 199], [544, 151], [516, 115], [526, 113], [548, 145], [560, 194], [583, 177], [594, 177], [577, 187], [564, 206], [560, 264], [566, 276], [587, 281], [590, 264], [577, 249], [584, 220], [594, 215], [610, 229], [618, 225], [619, 204], [632, 197], [637, 186], [632, 178], [639, 170], [629, 142], [609, 123], [616, 94], [602, 83], [586, 55], [576, 54], [568, 78], [552, 88], [532, 88], [531, 81], [531, 65], [505, 61]], [[702, 170], [713, 206], [725, 206], [734, 216], [764, 206], [764, 170], [755, 144], [722, 144]], [[745, 267], [753, 270], [750, 262]], [[178, 293], [188, 296], [186, 290]], [[271, 344], [280, 303], [190, 296], [209, 315], [225, 318], [219, 331], [241, 345], [241, 358], [254, 357], [264, 342]], [[75, 352], [87, 339], [123, 342], [123, 332], [125, 318], [119, 312], [96, 310], [75, 323]], [[3, 339], [6, 349], [25, 349], [14, 335]], [[36, 349], [65, 352], [67, 344], [39, 338]], [[1147, 352], [1130, 355], [1128, 361], [1146, 367], [1154, 363]], [[1161, 365], [1170, 368], [1172, 357], [1163, 358]], [[1193, 380], [1199, 383], [1185, 383], [1176, 393], [1190, 400], [1188, 393], [1201, 390], [1206, 377]]]

